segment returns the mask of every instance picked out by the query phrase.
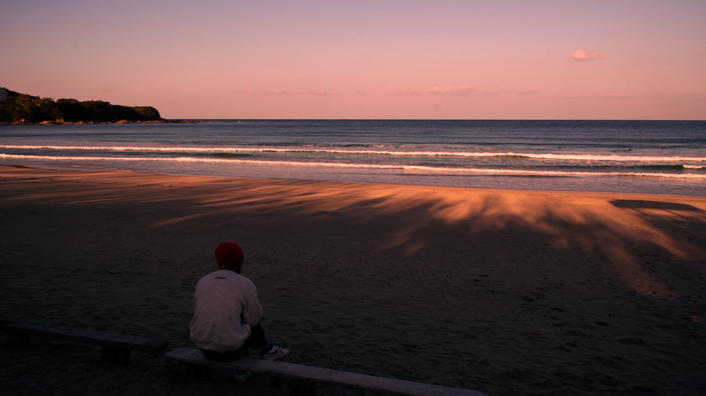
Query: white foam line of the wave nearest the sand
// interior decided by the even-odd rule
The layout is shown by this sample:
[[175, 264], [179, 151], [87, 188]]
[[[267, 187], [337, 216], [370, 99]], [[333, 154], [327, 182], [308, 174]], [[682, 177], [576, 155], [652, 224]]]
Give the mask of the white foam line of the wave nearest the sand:
[[380, 165], [358, 164], [339, 162], [303, 162], [303, 161], [265, 161], [254, 159], [216, 159], [193, 157], [109, 157], [109, 156], [32, 156], [16, 154], [0, 154], [0, 159], [40, 159], [50, 161], [164, 161], [164, 162], [192, 162], [192, 163], [249, 163], [256, 165], [277, 166], [327, 166], [333, 168], [374, 168], [374, 169], [402, 169], [405, 171], [427, 171], [435, 173], [481, 173], [486, 175], [518, 175], [518, 176], [638, 176], [650, 178], [677, 178], [677, 179], [702, 179], [706, 175], [683, 173], [639, 173], [639, 172], [567, 172], [567, 171], [520, 171], [516, 169], [493, 168], [448, 168], [417, 165]]

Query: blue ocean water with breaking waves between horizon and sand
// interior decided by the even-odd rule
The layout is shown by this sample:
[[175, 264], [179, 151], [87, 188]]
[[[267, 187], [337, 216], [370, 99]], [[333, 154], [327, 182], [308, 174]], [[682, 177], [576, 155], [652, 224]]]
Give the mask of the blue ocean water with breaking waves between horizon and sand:
[[203, 120], [1, 125], [0, 163], [706, 196], [706, 121]]

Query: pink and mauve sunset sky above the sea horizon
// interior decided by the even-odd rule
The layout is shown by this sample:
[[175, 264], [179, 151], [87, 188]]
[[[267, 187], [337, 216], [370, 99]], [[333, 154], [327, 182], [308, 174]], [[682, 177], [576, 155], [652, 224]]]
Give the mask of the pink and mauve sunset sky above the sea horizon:
[[0, 85], [165, 118], [706, 119], [702, 0], [1, 3]]

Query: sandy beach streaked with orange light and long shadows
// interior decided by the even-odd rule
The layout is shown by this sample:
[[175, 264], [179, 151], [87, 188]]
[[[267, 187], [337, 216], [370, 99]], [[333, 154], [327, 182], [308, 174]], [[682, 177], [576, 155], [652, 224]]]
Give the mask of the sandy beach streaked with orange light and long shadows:
[[[0, 319], [189, 340], [223, 240], [306, 364], [489, 395], [706, 389], [706, 197], [0, 166]], [[37, 338], [0, 394], [286, 395]], [[320, 395], [360, 395], [322, 386]]]

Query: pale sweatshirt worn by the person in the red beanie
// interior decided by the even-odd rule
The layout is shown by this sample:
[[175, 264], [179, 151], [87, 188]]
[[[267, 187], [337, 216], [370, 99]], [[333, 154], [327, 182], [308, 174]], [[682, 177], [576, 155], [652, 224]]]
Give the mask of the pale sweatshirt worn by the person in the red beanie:
[[240, 349], [251, 326], [260, 323], [263, 307], [252, 281], [234, 271], [219, 270], [201, 278], [193, 296], [191, 340], [201, 349]]

